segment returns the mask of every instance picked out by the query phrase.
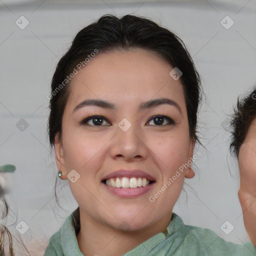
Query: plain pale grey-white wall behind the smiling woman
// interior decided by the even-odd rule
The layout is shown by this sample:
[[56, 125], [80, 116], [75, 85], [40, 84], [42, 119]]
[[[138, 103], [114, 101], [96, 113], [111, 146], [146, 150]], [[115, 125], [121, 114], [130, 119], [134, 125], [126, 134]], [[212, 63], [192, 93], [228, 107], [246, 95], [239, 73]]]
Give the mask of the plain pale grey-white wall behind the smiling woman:
[[[55, 207], [57, 169], [46, 134], [50, 80], [58, 59], [82, 27], [105, 13], [135, 12], [161, 22], [183, 39], [206, 95], [199, 126], [207, 151], [199, 147], [196, 175], [186, 180], [199, 198], [185, 186], [187, 205], [182, 192], [173, 211], [186, 224], [210, 228], [228, 241], [242, 243], [248, 237], [237, 197], [237, 164], [228, 154], [229, 133], [222, 122], [226, 122], [237, 96], [256, 83], [256, 1], [142, 3], [1, 2], [0, 165], [12, 163], [17, 167], [10, 174], [11, 191], [6, 195], [13, 210], [8, 223], [23, 220], [30, 227], [26, 233], [29, 237], [49, 237], [76, 208], [67, 186], [58, 193], [59, 197], [64, 195], [60, 203], [66, 211]], [[24, 29], [15, 24], [21, 15], [29, 21]], [[226, 15], [234, 21], [229, 29], [220, 24]], [[16, 127], [21, 118], [28, 123], [24, 131]], [[220, 229], [226, 220], [235, 227], [228, 235]], [[11, 230], [16, 231], [15, 225]]]

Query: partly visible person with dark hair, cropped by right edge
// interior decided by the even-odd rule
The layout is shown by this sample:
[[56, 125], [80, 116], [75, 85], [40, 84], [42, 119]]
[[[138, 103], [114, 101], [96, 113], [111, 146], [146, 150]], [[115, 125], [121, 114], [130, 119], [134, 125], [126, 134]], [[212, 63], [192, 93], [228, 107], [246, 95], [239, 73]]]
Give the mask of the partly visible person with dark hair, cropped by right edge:
[[256, 87], [238, 98], [231, 125], [230, 149], [237, 157], [240, 173], [238, 198], [245, 229], [256, 244]]

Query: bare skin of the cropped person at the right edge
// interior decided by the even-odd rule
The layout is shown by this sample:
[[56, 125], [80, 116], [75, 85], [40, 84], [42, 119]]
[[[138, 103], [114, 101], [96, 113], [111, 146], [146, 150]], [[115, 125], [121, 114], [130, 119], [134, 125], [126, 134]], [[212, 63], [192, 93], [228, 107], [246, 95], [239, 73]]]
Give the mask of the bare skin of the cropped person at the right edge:
[[256, 118], [251, 122], [238, 154], [240, 187], [238, 198], [250, 241], [256, 245]]

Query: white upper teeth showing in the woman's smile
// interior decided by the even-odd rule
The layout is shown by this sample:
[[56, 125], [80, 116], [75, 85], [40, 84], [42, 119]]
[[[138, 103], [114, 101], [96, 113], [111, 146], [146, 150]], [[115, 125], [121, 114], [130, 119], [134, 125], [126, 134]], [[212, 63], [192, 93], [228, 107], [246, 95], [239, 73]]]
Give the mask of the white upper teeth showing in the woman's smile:
[[149, 180], [146, 178], [127, 178], [127, 177], [117, 177], [117, 178], [109, 178], [106, 180], [106, 185], [113, 187], [130, 187], [135, 188], [137, 186], [146, 186], [149, 185]]

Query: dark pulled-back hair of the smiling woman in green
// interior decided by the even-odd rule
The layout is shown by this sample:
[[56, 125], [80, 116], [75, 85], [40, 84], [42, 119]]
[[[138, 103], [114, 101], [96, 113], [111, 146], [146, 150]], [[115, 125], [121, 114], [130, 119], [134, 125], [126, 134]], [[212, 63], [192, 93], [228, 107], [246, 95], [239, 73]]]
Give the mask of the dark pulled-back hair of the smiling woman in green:
[[[181, 70], [180, 79], [185, 96], [189, 134], [197, 140], [197, 110], [201, 100], [199, 74], [182, 40], [168, 29], [146, 18], [134, 15], [118, 18], [106, 14], [81, 29], [57, 64], [51, 81], [51, 92], [56, 91], [73, 68], [95, 49], [106, 52], [132, 48], [154, 52], [171, 66]], [[50, 98], [47, 128], [51, 146], [54, 145], [54, 137], [57, 133], [58, 139], [61, 139], [61, 120], [69, 94], [68, 85], [69, 83]]]

